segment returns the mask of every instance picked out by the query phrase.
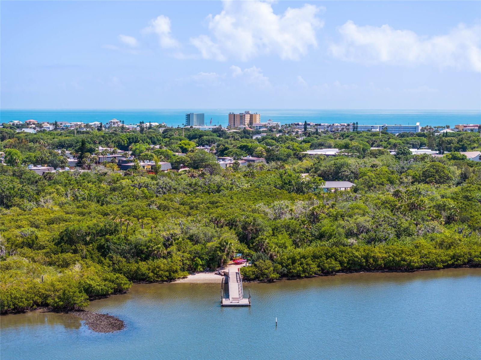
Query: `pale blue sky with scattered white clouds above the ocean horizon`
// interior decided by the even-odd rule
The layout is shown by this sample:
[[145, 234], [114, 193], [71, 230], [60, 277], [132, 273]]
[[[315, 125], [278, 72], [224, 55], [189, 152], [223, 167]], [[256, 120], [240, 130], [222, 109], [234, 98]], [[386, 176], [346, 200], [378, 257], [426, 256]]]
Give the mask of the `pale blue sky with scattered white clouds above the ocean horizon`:
[[480, 109], [480, 1], [1, 1], [2, 108]]

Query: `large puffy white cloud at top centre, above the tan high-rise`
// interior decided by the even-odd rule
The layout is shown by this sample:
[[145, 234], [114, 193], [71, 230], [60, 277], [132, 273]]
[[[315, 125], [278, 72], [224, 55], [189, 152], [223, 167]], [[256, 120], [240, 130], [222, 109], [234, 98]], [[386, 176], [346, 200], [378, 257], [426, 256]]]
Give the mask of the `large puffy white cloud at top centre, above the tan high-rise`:
[[192, 37], [190, 42], [204, 59], [225, 61], [229, 57], [247, 61], [260, 54], [299, 60], [316, 47], [317, 18], [323, 7], [305, 4], [277, 15], [271, 2], [225, 1], [219, 14], [208, 16], [210, 36]]

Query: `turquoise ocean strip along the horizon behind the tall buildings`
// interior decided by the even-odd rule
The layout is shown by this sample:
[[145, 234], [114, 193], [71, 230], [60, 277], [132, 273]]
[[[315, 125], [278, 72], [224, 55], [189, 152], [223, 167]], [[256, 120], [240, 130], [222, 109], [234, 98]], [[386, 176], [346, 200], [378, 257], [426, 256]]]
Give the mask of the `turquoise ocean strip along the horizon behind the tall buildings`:
[[[99, 121], [103, 124], [115, 118], [125, 124], [165, 123], [169, 126], [182, 125], [186, 112], [205, 113], [205, 124], [222, 124], [227, 126], [229, 112], [243, 112], [246, 109], [163, 109], [163, 110], [0, 110], [1, 123], [13, 120], [25, 122], [34, 119], [38, 122], [82, 121], [92, 123]], [[294, 122], [315, 123], [353, 123], [361, 125], [375, 124], [416, 124], [421, 126], [454, 127], [456, 124], [479, 124], [481, 112], [479, 110], [312, 110], [312, 109], [250, 109], [261, 114], [261, 121], [290, 124]]]

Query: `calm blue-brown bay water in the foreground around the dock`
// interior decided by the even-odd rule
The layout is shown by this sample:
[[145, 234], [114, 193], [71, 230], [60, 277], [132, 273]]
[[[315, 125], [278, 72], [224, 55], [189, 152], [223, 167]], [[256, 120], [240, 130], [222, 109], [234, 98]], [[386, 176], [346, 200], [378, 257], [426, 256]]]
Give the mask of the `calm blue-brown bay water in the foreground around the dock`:
[[[134, 285], [91, 302], [127, 328], [90, 332], [72, 315], [1, 321], [1, 359], [481, 359], [481, 269], [336, 275], [245, 284]], [[275, 318], [278, 318], [278, 327]]]

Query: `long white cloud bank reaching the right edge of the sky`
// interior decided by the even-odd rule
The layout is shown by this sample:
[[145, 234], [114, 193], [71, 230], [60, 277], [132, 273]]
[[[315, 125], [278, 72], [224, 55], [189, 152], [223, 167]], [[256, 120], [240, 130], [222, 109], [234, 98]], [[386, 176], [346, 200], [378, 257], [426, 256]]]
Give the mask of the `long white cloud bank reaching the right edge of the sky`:
[[432, 64], [481, 72], [481, 28], [458, 25], [447, 35], [421, 37], [389, 25], [359, 26], [351, 20], [339, 28], [341, 41], [331, 44], [334, 57], [367, 64]]

